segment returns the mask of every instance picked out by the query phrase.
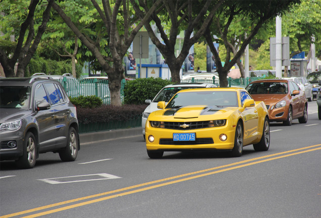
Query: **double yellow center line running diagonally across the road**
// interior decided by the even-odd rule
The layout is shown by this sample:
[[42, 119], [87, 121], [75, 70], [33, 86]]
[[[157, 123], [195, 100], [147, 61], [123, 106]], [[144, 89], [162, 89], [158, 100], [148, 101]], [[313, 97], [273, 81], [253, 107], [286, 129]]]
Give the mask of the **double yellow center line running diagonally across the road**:
[[[321, 150], [321, 144], [307, 146], [307, 147], [303, 147], [303, 148], [298, 148], [298, 149], [284, 151], [284, 152], [270, 154], [270, 155], [265, 155], [265, 156], [261, 156], [261, 157], [251, 158], [251, 159], [247, 159], [247, 160], [243, 160], [243, 161], [239, 161], [239, 162], [235, 162], [235, 163], [230, 163], [230, 164], [224, 165], [224, 166], [209, 168], [206, 170], [196, 171], [196, 172], [192, 172], [192, 173], [188, 173], [188, 174], [182, 174], [182, 175], [169, 177], [169, 178], [165, 178], [165, 179], [161, 179], [161, 180], [155, 180], [155, 181], [142, 183], [142, 184], [138, 184], [138, 185], [134, 185], [134, 186], [129, 186], [126, 188], [117, 189], [117, 190], [113, 190], [113, 191], [109, 191], [109, 192], [103, 192], [103, 193], [89, 195], [89, 196], [82, 197], [82, 198], [67, 200], [67, 201], [63, 201], [63, 202], [59, 202], [59, 203], [55, 203], [55, 204], [49, 204], [46, 206], [36, 207], [33, 209], [29, 209], [29, 210], [11, 213], [8, 215], [3, 215], [3, 216], [0, 216], [0, 218], [13, 217], [13, 216], [26, 214], [26, 213], [33, 213], [33, 214], [23, 216], [24, 218], [38, 217], [38, 216], [42, 216], [42, 215], [46, 215], [46, 214], [50, 214], [50, 213], [55, 213], [55, 212], [59, 212], [59, 211], [87, 205], [87, 204], [96, 203], [99, 201], [104, 201], [104, 200], [108, 200], [108, 199], [112, 199], [112, 198], [116, 198], [116, 197], [120, 197], [120, 196], [134, 194], [137, 192], [142, 192], [142, 191], [146, 191], [146, 190], [150, 190], [150, 189], [154, 189], [154, 188], [158, 188], [158, 187], [162, 187], [162, 186], [180, 183], [180, 182], [184, 182], [184, 181], [188, 181], [188, 180], [192, 180], [192, 179], [197, 179], [197, 178], [204, 177], [204, 176], [209, 176], [209, 175], [222, 173], [222, 172], [226, 172], [226, 171], [230, 171], [230, 170], [234, 170], [234, 169], [239, 169], [239, 168], [243, 168], [243, 167], [247, 167], [247, 166], [251, 166], [251, 165], [256, 165], [257, 163], [280, 159], [280, 158], [293, 156], [293, 155], [306, 153], [306, 152], [311, 152], [311, 151], [315, 151], [315, 150]], [[75, 202], [79, 202], [79, 201], [82, 201], [82, 202], [75, 203]], [[75, 203], [75, 204], [73, 204], [73, 203]], [[67, 204], [69, 204], [69, 205], [67, 205]], [[66, 205], [66, 206], [63, 206], [63, 205]], [[62, 206], [62, 207], [59, 207], [59, 206]], [[58, 208], [50, 209], [50, 210], [46, 210], [46, 211], [42, 211], [42, 212], [37, 212], [37, 211], [49, 209], [52, 207], [58, 207]]]

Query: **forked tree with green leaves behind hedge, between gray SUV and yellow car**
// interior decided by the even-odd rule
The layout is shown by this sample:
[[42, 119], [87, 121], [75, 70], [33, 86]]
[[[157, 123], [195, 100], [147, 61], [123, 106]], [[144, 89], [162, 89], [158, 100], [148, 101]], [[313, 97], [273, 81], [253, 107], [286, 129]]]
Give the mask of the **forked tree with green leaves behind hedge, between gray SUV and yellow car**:
[[[89, 3], [81, 0], [72, 2], [74, 7], [79, 8], [76, 11], [73, 11], [74, 7], [69, 7], [71, 1], [52, 5], [108, 75], [113, 105], [121, 105], [120, 88], [124, 74], [124, 56], [135, 35], [161, 4], [161, 0], [154, 2], [150, 9], [144, 10], [144, 16], [141, 19], [133, 13], [130, 3], [136, 5], [136, 1], [96, 2], [91, 0]], [[90, 27], [91, 31], [83, 31], [84, 26]]]

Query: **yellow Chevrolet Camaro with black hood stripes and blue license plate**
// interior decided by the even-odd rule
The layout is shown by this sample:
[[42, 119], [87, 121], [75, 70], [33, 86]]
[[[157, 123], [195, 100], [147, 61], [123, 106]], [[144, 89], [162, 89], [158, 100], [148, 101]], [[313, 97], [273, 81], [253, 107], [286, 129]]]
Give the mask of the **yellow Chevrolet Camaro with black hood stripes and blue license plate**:
[[152, 112], [145, 126], [150, 158], [164, 151], [229, 150], [241, 156], [243, 146], [257, 151], [270, 147], [269, 113], [243, 88], [200, 88], [177, 92], [161, 110]]

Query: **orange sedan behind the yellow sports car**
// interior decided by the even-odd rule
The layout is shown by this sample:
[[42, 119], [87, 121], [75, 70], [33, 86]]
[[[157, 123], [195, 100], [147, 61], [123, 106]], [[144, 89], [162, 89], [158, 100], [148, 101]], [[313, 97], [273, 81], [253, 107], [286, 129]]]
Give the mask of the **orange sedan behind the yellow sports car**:
[[255, 101], [264, 101], [270, 122], [291, 126], [293, 119], [306, 123], [308, 119], [305, 93], [293, 81], [263, 79], [251, 82], [246, 90]]

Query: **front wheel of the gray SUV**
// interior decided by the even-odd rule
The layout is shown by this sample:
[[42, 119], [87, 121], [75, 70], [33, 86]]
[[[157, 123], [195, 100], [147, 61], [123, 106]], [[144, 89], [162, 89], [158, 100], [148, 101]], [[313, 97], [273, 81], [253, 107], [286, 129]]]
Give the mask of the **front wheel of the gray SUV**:
[[23, 154], [16, 160], [18, 168], [31, 169], [36, 164], [37, 146], [36, 139], [31, 132], [28, 132], [23, 145]]

